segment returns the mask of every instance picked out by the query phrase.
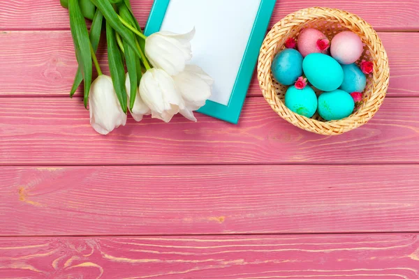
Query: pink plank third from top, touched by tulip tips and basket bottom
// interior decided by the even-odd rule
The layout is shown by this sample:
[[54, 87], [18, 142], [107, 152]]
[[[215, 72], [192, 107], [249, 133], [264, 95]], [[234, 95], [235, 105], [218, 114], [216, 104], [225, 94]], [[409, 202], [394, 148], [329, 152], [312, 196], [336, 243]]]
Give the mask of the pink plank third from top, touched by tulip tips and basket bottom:
[[419, 98], [388, 98], [366, 126], [337, 137], [281, 119], [248, 98], [239, 125], [197, 114], [131, 119], [104, 137], [80, 98], [1, 98], [0, 165], [419, 163]]

